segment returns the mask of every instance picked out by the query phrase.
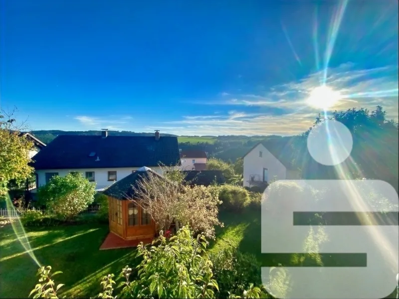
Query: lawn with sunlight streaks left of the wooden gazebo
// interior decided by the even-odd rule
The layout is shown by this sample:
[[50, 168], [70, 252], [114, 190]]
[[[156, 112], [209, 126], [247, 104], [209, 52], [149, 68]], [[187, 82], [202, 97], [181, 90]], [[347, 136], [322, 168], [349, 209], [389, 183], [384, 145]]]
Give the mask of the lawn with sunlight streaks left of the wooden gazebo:
[[[134, 266], [134, 249], [99, 250], [108, 234], [108, 225], [90, 224], [35, 228], [25, 235], [16, 235], [11, 225], [0, 228], [0, 298], [27, 298], [37, 283], [38, 266], [35, 257], [52, 271], [62, 271], [56, 283], [65, 284], [60, 296], [66, 298], [89, 298], [100, 292], [101, 278], [122, 268]], [[22, 243], [19, 241], [19, 239]]]

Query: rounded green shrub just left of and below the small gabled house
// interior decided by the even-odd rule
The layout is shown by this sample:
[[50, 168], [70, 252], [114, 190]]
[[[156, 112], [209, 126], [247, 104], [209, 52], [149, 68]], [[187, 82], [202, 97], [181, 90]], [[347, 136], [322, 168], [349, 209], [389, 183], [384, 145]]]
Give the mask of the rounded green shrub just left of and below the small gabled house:
[[240, 186], [223, 185], [220, 187], [219, 200], [225, 210], [241, 212], [249, 204], [249, 192]]

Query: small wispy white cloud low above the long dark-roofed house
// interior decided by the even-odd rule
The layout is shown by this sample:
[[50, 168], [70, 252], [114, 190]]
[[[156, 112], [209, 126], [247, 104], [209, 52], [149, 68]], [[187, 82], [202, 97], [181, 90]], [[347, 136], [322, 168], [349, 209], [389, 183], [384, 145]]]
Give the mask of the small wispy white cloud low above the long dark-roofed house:
[[79, 121], [82, 125], [82, 130], [100, 130], [104, 128], [108, 130], [122, 131], [131, 129], [127, 124], [132, 117], [125, 116], [109, 119], [92, 116], [76, 116], [74, 119]]

